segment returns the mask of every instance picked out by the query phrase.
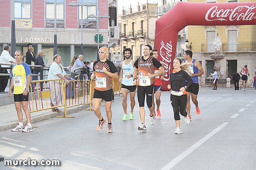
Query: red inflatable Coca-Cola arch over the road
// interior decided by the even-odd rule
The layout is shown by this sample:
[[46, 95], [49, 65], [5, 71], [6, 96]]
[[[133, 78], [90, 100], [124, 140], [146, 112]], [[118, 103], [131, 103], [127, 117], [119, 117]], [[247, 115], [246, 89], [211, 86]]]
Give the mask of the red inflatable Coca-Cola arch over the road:
[[168, 90], [170, 71], [176, 55], [178, 32], [187, 25], [255, 25], [256, 2], [194, 3], [178, 2], [156, 20], [154, 48], [164, 62], [162, 90]]

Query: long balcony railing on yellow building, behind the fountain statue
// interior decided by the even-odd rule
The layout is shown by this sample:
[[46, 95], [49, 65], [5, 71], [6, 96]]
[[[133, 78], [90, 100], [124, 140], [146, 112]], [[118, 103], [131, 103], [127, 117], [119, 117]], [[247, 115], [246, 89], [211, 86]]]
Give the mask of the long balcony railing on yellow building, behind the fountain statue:
[[[222, 52], [250, 52], [256, 51], [256, 43], [222, 43]], [[214, 52], [213, 44], [201, 44], [201, 52]]]

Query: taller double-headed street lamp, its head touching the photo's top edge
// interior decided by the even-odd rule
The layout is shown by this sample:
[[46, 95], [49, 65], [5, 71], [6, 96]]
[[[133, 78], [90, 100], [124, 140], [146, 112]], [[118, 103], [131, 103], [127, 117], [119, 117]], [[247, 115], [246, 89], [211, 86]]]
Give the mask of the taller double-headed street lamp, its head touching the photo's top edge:
[[84, 3], [84, 0], [82, 0], [81, 3], [77, 3], [75, 1], [72, 1], [68, 4], [68, 6], [81, 6], [81, 54], [84, 55], [84, 43], [83, 43], [83, 7], [84, 6], [96, 6], [92, 1]]

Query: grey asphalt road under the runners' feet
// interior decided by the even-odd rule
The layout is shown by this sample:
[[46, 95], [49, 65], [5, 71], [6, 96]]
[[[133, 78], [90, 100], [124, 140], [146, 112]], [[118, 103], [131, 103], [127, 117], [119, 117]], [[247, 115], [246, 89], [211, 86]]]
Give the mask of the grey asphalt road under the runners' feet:
[[[0, 132], [0, 156], [7, 160], [60, 160], [60, 166], [4, 166], [5, 169], [114, 169], [114, 170], [254, 170], [256, 167], [256, 90], [200, 88], [192, 121], [181, 119], [182, 132], [175, 135], [170, 92], [162, 92], [162, 117], [150, 124], [146, 108], [146, 132], [140, 124], [138, 102], [134, 120], [122, 121], [122, 97], [112, 103], [114, 133], [96, 131], [93, 111], [38, 122], [34, 132]], [[104, 103], [103, 103], [104, 104]], [[130, 102], [128, 102], [129, 106]], [[146, 106], [146, 104], [145, 104]], [[129, 108], [129, 107], [128, 107]], [[106, 118], [104, 106], [100, 107]], [[168, 122], [167, 124], [163, 124]]]

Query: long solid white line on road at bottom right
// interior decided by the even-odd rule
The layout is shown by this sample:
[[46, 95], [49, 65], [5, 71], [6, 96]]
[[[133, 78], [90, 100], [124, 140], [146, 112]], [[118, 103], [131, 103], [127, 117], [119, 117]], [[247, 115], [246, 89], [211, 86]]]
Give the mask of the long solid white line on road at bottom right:
[[218, 131], [220, 131], [223, 127], [225, 127], [226, 125], [228, 125], [229, 122], [224, 122], [222, 125], [220, 125], [219, 127], [217, 127], [216, 129], [214, 129], [211, 133], [209, 133], [208, 135], [206, 135], [205, 137], [203, 137], [200, 141], [198, 141], [197, 143], [195, 143], [194, 145], [192, 145], [190, 148], [188, 148], [187, 150], [185, 150], [184, 152], [182, 152], [182, 154], [180, 154], [178, 157], [176, 157], [174, 160], [172, 160], [172, 162], [170, 162], [169, 164], [167, 164], [166, 166], [164, 166], [164, 168], [162, 168], [161, 170], [169, 170], [172, 167], [174, 167], [176, 164], [178, 164], [182, 159], [184, 159], [186, 156], [188, 156], [191, 152], [193, 152], [195, 149], [197, 149], [198, 147], [200, 147], [200, 145], [202, 145], [205, 141], [207, 141], [208, 139], [210, 139], [213, 135], [215, 135]]

